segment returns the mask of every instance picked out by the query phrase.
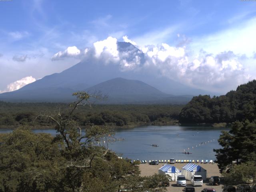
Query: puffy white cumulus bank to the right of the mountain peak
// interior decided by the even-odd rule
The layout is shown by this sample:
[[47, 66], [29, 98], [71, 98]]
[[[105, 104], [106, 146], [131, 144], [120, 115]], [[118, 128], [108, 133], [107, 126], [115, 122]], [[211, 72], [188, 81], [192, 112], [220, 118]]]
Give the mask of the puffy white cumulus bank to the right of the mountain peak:
[[231, 51], [214, 55], [201, 50], [197, 55], [189, 55], [185, 47], [167, 44], [145, 50], [148, 64], [158, 74], [196, 88], [220, 91], [248, 80], [240, 56]]

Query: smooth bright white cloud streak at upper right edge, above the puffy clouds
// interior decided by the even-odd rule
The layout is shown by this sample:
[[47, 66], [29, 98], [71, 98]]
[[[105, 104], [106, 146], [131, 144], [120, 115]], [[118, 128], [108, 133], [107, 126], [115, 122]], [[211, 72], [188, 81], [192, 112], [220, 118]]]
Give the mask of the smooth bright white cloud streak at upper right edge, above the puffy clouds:
[[256, 50], [255, 31], [256, 18], [252, 18], [233, 28], [206, 36], [194, 37], [190, 46], [195, 52], [204, 49], [207, 52], [218, 54], [232, 50], [235, 54], [252, 56], [253, 51]]

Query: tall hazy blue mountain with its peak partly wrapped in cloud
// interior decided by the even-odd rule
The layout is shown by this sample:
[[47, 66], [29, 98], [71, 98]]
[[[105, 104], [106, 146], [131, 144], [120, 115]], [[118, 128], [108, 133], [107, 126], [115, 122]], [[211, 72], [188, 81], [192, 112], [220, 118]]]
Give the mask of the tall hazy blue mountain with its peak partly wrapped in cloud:
[[[170, 100], [174, 103], [184, 103], [191, 95], [213, 94], [190, 88], [163, 76], [150, 75], [148, 69], [145, 72], [144, 68], [139, 68], [147, 62], [147, 56], [141, 50], [129, 42], [117, 42], [116, 45], [118, 54], [110, 50], [110, 56], [109, 52], [104, 52], [106, 48], [103, 48], [100, 57], [95, 57], [97, 49], [87, 50], [78, 64], [61, 73], [45, 76], [14, 92], [0, 94], [0, 100], [69, 101], [72, 99], [72, 92], [100, 90], [109, 95], [109, 99], [112, 100], [109, 100], [110, 103], [120, 103], [122, 100], [126, 103]], [[129, 70], [134, 65], [139, 69]], [[189, 96], [175, 97], [178, 95]]]

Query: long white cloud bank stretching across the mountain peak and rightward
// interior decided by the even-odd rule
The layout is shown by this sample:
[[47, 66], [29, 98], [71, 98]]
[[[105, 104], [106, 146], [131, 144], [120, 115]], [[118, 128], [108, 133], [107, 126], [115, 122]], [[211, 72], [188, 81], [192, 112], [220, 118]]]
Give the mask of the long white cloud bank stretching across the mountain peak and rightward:
[[193, 53], [186, 43], [179, 44], [182, 46], [162, 43], [140, 47], [127, 36], [123, 39], [134, 46], [122, 49], [122, 42], [119, 42], [118, 48], [117, 39], [109, 36], [84, 51], [75, 46], [68, 47], [64, 52], [54, 54], [52, 60], [68, 56], [79, 56], [81, 60], [94, 57], [100, 60], [102, 65], [115, 65], [120, 72], [136, 71], [164, 76], [194, 88], [217, 92], [224, 92], [226, 87], [233, 88], [250, 80], [242, 64], [243, 57], [232, 51], [211, 54], [200, 50]]

